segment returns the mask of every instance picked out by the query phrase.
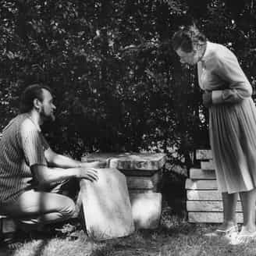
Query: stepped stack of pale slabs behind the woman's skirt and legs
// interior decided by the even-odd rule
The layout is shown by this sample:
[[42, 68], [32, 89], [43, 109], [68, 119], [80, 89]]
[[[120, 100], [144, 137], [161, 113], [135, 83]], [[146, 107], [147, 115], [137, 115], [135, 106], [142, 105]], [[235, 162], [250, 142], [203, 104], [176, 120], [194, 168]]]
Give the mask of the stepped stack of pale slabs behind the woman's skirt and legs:
[[[218, 190], [211, 150], [197, 150], [201, 168], [191, 168], [186, 180], [188, 222], [221, 223], [223, 221], [222, 195]], [[243, 222], [240, 200], [236, 218]]]

